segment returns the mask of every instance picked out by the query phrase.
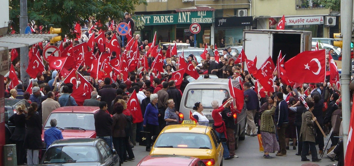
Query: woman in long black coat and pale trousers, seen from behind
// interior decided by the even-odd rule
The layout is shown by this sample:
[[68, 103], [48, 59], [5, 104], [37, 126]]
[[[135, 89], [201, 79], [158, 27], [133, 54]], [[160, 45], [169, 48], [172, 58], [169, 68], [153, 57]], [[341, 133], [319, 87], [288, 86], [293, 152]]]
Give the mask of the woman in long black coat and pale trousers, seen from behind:
[[39, 116], [38, 105], [31, 103], [26, 117], [26, 135], [23, 148], [27, 149], [27, 164], [39, 164], [39, 150], [42, 149], [42, 118]]

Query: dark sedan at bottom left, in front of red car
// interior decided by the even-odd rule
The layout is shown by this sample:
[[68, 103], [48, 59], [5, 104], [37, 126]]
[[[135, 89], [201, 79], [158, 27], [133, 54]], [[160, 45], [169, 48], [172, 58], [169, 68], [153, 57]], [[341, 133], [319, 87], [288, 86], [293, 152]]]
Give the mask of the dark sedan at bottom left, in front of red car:
[[97, 138], [57, 140], [49, 146], [40, 165], [120, 166], [118, 154]]

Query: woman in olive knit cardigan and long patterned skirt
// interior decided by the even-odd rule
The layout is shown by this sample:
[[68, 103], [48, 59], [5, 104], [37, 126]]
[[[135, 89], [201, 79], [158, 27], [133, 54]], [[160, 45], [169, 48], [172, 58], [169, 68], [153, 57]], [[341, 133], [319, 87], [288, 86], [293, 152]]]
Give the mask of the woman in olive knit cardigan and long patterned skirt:
[[[274, 96], [275, 97], [275, 96]], [[272, 98], [269, 98], [272, 99]], [[261, 136], [264, 147], [263, 158], [272, 159], [273, 157], [269, 153], [274, 153], [279, 150], [279, 143], [275, 136], [275, 125], [273, 121], [273, 115], [276, 108], [276, 97], [272, 99], [273, 105], [269, 106], [267, 110], [264, 110], [261, 115]], [[266, 104], [266, 103], [264, 103]]]

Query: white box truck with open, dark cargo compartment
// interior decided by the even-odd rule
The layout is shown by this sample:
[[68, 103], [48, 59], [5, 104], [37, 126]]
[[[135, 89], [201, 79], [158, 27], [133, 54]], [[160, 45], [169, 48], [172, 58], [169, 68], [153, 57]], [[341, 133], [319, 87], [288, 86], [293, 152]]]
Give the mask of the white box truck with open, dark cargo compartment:
[[257, 55], [257, 68], [261, 67], [269, 55], [275, 64], [280, 50], [283, 57], [286, 55], [287, 61], [303, 51], [310, 51], [311, 46], [311, 31], [272, 29], [243, 31], [243, 49], [249, 60], [253, 60]]

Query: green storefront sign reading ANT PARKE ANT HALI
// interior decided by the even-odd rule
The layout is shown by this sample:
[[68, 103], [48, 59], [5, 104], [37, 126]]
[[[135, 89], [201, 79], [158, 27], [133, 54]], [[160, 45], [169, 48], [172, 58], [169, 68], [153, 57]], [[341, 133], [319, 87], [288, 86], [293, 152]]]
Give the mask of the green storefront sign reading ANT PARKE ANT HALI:
[[212, 23], [212, 11], [178, 12], [174, 14], [135, 15], [145, 25]]

